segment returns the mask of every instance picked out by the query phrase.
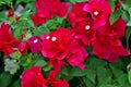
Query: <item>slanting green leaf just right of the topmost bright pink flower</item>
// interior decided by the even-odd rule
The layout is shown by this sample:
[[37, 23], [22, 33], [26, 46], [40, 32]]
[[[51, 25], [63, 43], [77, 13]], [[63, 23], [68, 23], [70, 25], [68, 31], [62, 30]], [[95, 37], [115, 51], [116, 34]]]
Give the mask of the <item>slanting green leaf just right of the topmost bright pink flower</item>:
[[121, 14], [122, 14], [121, 9], [115, 11], [109, 17], [110, 24], [112, 25], [115, 22], [117, 22]]

